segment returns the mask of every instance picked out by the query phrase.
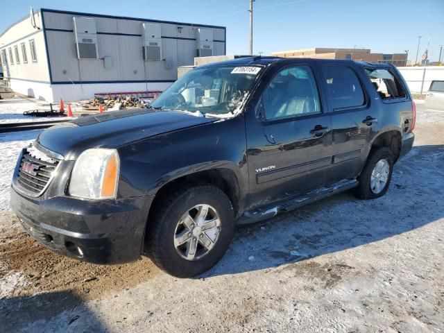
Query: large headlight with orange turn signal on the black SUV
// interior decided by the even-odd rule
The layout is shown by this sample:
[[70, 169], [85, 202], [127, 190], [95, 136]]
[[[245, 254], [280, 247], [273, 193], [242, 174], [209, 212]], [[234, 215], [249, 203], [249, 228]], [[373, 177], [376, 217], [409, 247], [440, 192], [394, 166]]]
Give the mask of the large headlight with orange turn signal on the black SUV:
[[114, 149], [93, 148], [80, 154], [69, 182], [69, 194], [88, 199], [115, 198], [119, 155]]

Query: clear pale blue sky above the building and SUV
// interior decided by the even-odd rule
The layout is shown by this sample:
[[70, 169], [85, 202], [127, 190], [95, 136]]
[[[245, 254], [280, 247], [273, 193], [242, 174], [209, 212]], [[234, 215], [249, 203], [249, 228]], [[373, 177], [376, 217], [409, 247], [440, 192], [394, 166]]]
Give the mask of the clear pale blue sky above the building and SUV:
[[[248, 53], [248, 0], [3, 2], [2, 32], [33, 6], [226, 26], [227, 54]], [[264, 55], [315, 46], [356, 47], [377, 53], [409, 50], [409, 59], [415, 60], [422, 35], [418, 58], [429, 42], [429, 59], [437, 61], [444, 44], [444, 0], [256, 0], [254, 6], [254, 52]]]

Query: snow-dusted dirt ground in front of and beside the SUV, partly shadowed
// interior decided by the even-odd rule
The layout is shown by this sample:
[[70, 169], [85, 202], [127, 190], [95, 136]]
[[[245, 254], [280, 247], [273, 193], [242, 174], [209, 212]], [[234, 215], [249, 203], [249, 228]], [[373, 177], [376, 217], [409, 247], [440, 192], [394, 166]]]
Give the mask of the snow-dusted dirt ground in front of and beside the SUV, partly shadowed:
[[[239, 227], [212, 270], [62, 257], [0, 212], [3, 332], [444, 332], [444, 112], [418, 103], [383, 198], [339, 194]], [[0, 142], [1, 145], [1, 142]]]

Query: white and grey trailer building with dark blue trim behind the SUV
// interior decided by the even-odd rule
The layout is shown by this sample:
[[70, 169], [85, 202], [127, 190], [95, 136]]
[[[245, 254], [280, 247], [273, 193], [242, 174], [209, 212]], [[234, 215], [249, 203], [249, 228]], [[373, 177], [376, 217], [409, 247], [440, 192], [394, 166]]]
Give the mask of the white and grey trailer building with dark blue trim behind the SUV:
[[223, 56], [226, 29], [40, 9], [0, 35], [10, 87], [44, 101], [164, 90], [196, 56]]

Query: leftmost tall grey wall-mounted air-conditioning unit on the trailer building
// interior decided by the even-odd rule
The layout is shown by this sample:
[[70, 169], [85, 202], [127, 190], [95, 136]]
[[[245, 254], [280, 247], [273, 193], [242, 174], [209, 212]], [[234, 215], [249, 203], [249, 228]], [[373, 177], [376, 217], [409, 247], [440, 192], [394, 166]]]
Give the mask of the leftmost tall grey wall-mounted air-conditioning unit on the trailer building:
[[90, 17], [73, 17], [78, 59], [97, 59], [96, 21]]

